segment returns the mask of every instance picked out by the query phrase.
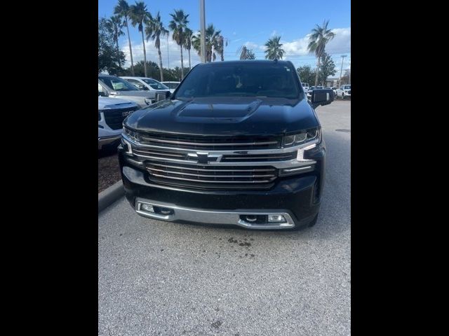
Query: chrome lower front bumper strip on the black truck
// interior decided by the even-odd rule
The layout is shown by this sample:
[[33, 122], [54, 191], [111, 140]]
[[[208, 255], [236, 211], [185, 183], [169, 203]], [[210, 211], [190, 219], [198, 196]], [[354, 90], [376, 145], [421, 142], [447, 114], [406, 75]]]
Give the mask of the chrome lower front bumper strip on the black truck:
[[[162, 208], [163, 211], [159, 213], [149, 212], [142, 209], [142, 204], [149, 204], [152, 207]], [[254, 210], [254, 209], [242, 209], [234, 211], [220, 211], [220, 210], [203, 210], [192, 209], [185, 207], [178, 207], [174, 204], [167, 204], [161, 202], [154, 202], [152, 200], [144, 200], [142, 198], [136, 198], [135, 211], [140, 216], [148, 218], [154, 218], [161, 221], [187, 221], [193, 223], [203, 224], [220, 224], [220, 225], [238, 225], [246, 229], [256, 230], [279, 230], [289, 229], [295, 227], [293, 218], [288, 212], [278, 210]], [[163, 214], [163, 212], [168, 214]], [[282, 215], [286, 221], [284, 222], [270, 222], [270, 223], [251, 223], [246, 220], [246, 216], [268, 216], [268, 215]]]

